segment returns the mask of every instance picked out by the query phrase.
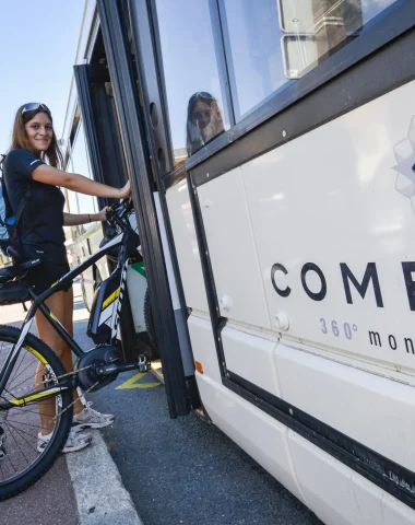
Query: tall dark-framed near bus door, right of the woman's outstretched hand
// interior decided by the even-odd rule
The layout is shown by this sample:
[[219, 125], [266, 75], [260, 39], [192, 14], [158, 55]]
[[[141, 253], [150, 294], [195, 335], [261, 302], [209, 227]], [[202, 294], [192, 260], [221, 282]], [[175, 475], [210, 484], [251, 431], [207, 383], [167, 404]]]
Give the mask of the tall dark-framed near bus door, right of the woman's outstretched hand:
[[[170, 165], [168, 148], [162, 137], [161, 145], [155, 149], [153, 128], [156, 126], [154, 122], [151, 125], [147, 113], [143, 110], [147, 95], [138, 63], [141, 51], [138, 54], [137, 50], [141, 47], [134, 42], [137, 35], [130, 23], [128, 2], [98, 0], [97, 8], [127, 173], [132, 186], [169, 412], [173, 418], [186, 416], [190, 407], [197, 405], [198, 396], [183, 322], [186, 312], [180, 301], [179, 279], [170, 249], [170, 232], [163, 219], [165, 202], [158, 191], [161, 171]], [[147, 18], [146, 11], [142, 14]], [[147, 44], [146, 55], [151, 57], [151, 38]], [[162, 108], [154, 107], [154, 110], [162, 118]]]

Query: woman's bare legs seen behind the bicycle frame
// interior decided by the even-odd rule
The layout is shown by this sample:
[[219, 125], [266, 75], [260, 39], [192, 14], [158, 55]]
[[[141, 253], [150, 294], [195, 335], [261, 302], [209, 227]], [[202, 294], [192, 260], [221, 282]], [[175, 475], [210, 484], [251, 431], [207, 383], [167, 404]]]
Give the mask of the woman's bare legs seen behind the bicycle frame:
[[[54, 315], [64, 326], [69, 334], [73, 335], [72, 312], [73, 312], [73, 293], [72, 289], [69, 292], [57, 292], [45, 301]], [[63, 341], [60, 335], [55, 330], [50, 323], [46, 319], [40, 311], [36, 312], [36, 327], [39, 338], [46, 342], [61, 359], [66, 370], [72, 371], [72, 352], [68, 345]], [[42, 382], [44, 368], [40, 365], [37, 369], [36, 383]], [[78, 399], [78, 394], [74, 392], [74, 399]], [[81, 401], [74, 405], [74, 413], [79, 413], [83, 409]], [[56, 416], [55, 399], [47, 399], [39, 402], [39, 413], [42, 422], [42, 433], [48, 434], [54, 429], [54, 420]]]

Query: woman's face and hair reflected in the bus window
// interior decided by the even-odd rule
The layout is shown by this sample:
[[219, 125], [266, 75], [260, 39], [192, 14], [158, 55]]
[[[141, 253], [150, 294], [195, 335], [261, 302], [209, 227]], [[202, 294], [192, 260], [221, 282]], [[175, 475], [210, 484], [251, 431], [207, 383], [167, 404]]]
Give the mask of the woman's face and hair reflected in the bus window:
[[188, 155], [192, 155], [224, 130], [216, 98], [205, 91], [194, 93], [188, 104], [186, 142]]

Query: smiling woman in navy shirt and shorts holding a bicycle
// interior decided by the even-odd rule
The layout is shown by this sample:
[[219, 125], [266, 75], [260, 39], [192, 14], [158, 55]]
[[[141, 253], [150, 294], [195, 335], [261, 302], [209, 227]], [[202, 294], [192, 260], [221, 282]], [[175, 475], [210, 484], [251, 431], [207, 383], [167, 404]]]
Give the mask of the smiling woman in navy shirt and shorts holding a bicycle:
[[[29, 103], [20, 107], [13, 127], [11, 149], [4, 160], [3, 177], [10, 205], [16, 213], [19, 202], [31, 187], [20, 223], [20, 241], [25, 259], [42, 259], [42, 265], [32, 268], [26, 281], [37, 294], [69, 271], [64, 247], [63, 226], [74, 226], [92, 221], [104, 221], [106, 210], [97, 214], [64, 213], [64, 197], [59, 187], [96, 197], [123, 199], [130, 196], [130, 183], [117, 189], [95, 183], [87, 177], [61, 171], [62, 154], [54, 131], [52, 117], [45, 104]], [[72, 288], [51, 295], [46, 304], [73, 335]], [[72, 370], [72, 354], [63, 339], [37, 311], [36, 326], [43, 339], [62, 360], [68, 371]], [[42, 382], [43, 366], [36, 371], [36, 383]], [[74, 393], [74, 418], [63, 452], [80, 451], [91, 443], [91, 435], [83, 434], [85, 428], [103, 428], [114, 421], [110, 415], [103, 415], [84, 406]], [[40, 405], [39, 405], [40, 407]], [[54, 430], [55, 400], [43, 401], [38, 451], [46, 448]]]

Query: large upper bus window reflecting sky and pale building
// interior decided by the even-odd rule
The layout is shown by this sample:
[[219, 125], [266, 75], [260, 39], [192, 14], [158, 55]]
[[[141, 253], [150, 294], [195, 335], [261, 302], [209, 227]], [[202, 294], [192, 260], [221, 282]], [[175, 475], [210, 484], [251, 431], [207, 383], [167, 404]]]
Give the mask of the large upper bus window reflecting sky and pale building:
[[355, 39], [395, 0], [220, 0], [236, 119]]

